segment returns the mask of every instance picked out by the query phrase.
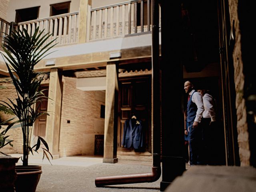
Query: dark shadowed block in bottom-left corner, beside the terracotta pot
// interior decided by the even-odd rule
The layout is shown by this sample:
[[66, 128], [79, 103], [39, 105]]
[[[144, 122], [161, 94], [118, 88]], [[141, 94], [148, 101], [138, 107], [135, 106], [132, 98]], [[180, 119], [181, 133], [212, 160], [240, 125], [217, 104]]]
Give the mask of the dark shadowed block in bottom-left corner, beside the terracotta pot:
[[19, 158], [0, 156], [0, 191], [15, 192], [14, 182], [17, 178], [15, 164]]

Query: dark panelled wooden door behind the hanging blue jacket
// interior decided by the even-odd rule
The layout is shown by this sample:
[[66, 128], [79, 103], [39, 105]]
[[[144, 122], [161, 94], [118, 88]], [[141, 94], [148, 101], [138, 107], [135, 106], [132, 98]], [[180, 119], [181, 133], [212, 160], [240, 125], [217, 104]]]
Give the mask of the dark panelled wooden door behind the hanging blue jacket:
[[[151, 76], [133, 79], [120, 79], [118, 107], [118, 150], [151, 152]], [[124, 122], [135, 114], [142, 121], [143, 147], [124, 148], [121, 146]]]

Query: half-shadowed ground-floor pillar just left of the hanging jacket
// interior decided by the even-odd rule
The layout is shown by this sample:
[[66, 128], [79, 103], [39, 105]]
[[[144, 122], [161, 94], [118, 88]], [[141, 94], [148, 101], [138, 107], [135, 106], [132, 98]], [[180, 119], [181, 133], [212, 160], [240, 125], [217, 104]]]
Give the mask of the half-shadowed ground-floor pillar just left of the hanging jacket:
[[104, 163], [116, 163], [118, 120], [118, 64], [108, 62], [106, 74], [106, 101], [104, 125]]

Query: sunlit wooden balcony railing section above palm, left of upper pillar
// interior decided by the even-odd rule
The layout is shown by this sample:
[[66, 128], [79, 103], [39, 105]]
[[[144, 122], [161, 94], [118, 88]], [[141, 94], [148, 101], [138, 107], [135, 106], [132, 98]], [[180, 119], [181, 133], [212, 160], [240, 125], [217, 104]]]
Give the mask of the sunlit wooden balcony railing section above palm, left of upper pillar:
[[39, 31], [44, 29], [44, 34], [50, 32], [52, 37], [48, 40], [56, 39], [58, 45], [78, 42], [78, 12], [51, 16], [44, 19], [30, 20], [18, 23], [16, 27], [26, 28], [29, 34], [33, 34], [39, 26]]

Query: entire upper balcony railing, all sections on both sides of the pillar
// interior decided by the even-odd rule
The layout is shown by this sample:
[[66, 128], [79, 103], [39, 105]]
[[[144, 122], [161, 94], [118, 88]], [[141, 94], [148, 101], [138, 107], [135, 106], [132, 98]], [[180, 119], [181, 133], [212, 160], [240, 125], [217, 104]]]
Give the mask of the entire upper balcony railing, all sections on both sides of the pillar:
[[[131, 0], [120, 4], [113, 4], [100, 8], [88, 5], [86, 42], [118, 38], [150, 33], [151, 31], [151, 1]], [[2, 34], [10, 34], [12, 28], [26, 28], [33, 33], [37, 27], [44, 33], [52, 33], [50, 40], [56, 39], [58, 46], [78, 43], [79, 12], [61, 14], [48, 18], [20, 22], [12, 26], [11, 23], [1, 21]]]

